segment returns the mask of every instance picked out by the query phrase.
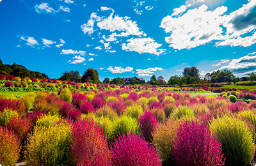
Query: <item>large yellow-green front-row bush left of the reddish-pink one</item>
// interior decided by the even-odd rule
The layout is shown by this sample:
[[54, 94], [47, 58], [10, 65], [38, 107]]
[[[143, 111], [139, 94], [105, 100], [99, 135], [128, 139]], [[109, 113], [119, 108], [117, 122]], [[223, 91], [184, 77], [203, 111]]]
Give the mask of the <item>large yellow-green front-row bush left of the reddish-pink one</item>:
[[70, 141], [72, 128], [61, 121], [49, 128], [36, 126], [28, 138], [25, 158], [28, 165], [72, 165], [70, 164]]

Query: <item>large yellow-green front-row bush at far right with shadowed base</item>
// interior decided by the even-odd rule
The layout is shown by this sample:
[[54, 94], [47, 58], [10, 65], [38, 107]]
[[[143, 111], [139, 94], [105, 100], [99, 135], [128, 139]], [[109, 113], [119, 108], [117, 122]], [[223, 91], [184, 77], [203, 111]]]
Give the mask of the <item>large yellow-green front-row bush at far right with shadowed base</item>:
[[253, 134], [247, 124], [234, 117], [223, 116], [210, 124], [221, 142], [226, 165], [248, 165], [255, 155]]

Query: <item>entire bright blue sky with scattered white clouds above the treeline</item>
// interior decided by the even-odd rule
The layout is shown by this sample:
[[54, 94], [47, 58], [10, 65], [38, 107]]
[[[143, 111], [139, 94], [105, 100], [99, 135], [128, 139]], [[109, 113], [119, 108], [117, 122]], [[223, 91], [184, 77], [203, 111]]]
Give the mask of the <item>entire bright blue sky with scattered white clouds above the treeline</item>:
[[51, 78], [256, 72], [256, 0], [13, 0], [0, 15], [3, 63]]

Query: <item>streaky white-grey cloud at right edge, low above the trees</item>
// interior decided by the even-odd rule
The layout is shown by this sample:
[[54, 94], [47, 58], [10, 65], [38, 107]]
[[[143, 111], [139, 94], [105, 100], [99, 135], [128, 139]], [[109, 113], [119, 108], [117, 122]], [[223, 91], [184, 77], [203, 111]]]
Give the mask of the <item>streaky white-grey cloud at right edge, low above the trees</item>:
[[239, 59], [232, 59], [227, 66], [222, 66], [218, 70], [231, 70], [234, 74], [256, 72], [256, 56], [243, 56]]

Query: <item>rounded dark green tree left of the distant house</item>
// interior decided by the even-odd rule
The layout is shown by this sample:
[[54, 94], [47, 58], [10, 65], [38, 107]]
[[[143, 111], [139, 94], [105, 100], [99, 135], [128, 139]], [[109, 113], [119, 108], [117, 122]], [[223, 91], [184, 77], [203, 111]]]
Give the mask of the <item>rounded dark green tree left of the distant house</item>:
[[93, 84], [99, 83], [99, 73], [97, 70], [92, 68], [88, 68], [84, 71], [83, 77], [81, 78], [81, 82], [90, 82]]

